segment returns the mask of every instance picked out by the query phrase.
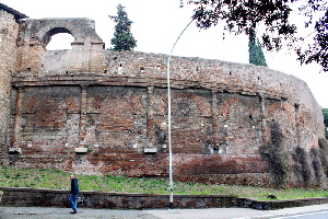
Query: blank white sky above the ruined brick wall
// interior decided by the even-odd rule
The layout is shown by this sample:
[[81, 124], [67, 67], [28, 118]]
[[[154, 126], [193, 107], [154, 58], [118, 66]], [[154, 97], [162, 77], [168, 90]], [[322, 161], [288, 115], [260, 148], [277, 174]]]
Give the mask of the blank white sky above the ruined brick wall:
[[[110, 47], [114, 22], [108, 15], [117, 14], [117, 4], [126, 7], [128, 18], [133, 22], [131, 32], [138, 41], [134, 50], [169, 54], [173, 44], [189, 23], [192, 8], [179, 8], [179, 0], [0, 0], [30, 19], [43, 18], [89, 18], [95, 21], [96, 32]], [[52, 36], [48, 48], [59, 48], [62, 44], [59, 34]], [[69, 43], [72, 38], [68, 39]], [[66, 45], [69, 45], [67, 43]], [[52, 48], [54, 48], [52, 47]], [[192, 23], [177, 43], [173, 55], [221, 59], [248, 64], [248, 38], [226, 35], [223, 41], [222, 27], [198, 30]], [[328, 73], [321, 72], [318, 65], [301, 66], [294, 54], [265, 51], [269, 68], [296, 76], [307, 82], [321, 107], [328, 108], [326, 84]]]

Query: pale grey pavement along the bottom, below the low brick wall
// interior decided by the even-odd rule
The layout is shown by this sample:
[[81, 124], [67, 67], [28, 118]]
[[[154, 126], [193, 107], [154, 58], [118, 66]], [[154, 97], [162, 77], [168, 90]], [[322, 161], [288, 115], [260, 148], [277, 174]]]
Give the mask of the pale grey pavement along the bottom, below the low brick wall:
[[328, 204], [279, 210], [255, 210], [249, 208], [208, 208], [208, 209], [150, 209], [112, 210], [80, 208], [70, 215], [70, 208], [42, 207], [0, 207], [0, 219], [268, 219], [298, 214], [327, 211]]

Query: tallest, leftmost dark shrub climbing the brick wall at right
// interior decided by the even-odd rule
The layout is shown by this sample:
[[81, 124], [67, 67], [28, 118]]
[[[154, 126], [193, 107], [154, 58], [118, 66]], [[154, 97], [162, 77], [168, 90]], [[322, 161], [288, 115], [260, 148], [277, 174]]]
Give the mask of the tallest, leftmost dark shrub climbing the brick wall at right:
[[271, 139], [267, 145], [259, 148], [259, 152], [263, 161], [269, 165], [269, 170], [273, 175], [277, 186], [283, 186], [286, 180], [288, 172], [288, 157], [283, 151], [282, 138], [278, 123], [270, 124]]

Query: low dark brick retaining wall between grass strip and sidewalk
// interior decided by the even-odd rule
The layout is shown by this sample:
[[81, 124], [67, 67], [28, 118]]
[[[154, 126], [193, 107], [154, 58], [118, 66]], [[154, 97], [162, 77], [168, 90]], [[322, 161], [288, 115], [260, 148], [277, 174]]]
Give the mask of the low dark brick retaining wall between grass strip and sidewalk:
[[[70, 191], [0, 187], [0, 206], [11, 207], [69, 207]], [[105, 193], [82, 191], [78, 206], [107, 209], [154, 209], [167, 208], [168, 195]], [[327, 204], [328, 197], [292, 200], [251, 200], [229, 195], [174, 195], [175, 208], [253, 208], [272, 210], [290, 207]]]

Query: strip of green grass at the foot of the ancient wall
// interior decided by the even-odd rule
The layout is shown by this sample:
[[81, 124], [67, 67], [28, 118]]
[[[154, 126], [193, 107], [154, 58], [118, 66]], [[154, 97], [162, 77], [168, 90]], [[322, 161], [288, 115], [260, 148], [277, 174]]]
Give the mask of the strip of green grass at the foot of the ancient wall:
[[[70, 173], [59, 170], [34, 170], [0, 166], [0, 187], [31, 187], [69, 189]], [[168, 181], [163, 178], [137, 178], [114, 175], [77, 175], [81, 191], [168, 194]], [[174, 194], [234, 195], [258, 200], [269, 200], [273, 195], [279, 200], [327, 197], [327, 189], [265, 188], [256, 186], [216, 185], [174, 182]]]

